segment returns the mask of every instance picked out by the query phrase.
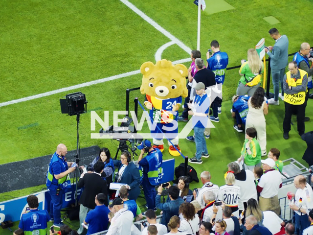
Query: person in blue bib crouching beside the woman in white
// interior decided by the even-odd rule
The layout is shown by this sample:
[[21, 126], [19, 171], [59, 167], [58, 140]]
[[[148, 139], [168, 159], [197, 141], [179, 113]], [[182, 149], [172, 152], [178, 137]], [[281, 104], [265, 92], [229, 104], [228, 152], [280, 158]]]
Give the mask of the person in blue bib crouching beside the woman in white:
[[246, 125], [246, 116], [249, 111], [248, 100], [250, 96], [245, 95], [234, 95], [233, 100], [233, 108], [231, 110], [231, 116], [236, 118], [236, 124], [234, 125], [234, 129], [238, 132], [243, 132], [243, 125]]

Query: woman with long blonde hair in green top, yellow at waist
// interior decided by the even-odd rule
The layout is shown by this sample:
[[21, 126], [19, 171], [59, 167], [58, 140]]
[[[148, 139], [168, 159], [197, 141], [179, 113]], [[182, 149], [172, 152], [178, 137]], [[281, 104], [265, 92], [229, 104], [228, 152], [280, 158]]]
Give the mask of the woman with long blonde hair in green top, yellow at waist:
[[239, 74], [237, 94], [252, 96], [255, 90], [260, 87], [261, 73], [264, 70], [264, 65], [258, 53], [254, 48], [248, 49], [248, 61], [242, 60]]

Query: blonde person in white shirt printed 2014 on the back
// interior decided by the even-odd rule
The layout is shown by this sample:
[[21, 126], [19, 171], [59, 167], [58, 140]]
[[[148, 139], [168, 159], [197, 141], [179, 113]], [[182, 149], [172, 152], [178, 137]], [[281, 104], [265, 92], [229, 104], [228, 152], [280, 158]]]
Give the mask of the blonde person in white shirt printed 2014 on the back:
[[[228, 172], [225, 178], [225, 185], [220, 187], [219, 200], [223, 201], [225, 206], [230, 207], [232, 214], [239, 218], [240, 187], [235, 185], [236, 179], [232, 172]], [[242, 206], [243, 208], [243, 206]]]

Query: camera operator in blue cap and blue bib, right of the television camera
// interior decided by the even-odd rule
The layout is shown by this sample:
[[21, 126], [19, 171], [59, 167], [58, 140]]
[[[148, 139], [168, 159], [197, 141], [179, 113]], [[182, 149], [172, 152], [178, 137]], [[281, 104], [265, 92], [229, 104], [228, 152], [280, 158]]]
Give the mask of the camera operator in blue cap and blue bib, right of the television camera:
[[[162, 174], [162, 152], [153, 148], [149, 140], [144, 140], [139, 146], [141, 150], [138, 164], [142, 169], [142, 188], [145, 194], [148, 210], [156, 210], [156, 189], [158, 176]], [[143, 155], [147, 156], [143, 158]]]

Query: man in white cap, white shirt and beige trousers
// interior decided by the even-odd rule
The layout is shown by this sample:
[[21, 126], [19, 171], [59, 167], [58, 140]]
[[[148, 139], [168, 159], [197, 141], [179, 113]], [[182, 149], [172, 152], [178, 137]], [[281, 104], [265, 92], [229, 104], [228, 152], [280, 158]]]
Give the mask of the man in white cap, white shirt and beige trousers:
[[278, 200], [278, 190], [282, 187], [282, 177], [279, 171], [274, 169], [273, 159], [261, 160], [264, 174], [257, 186], [260, 193], [259, 206], [262, 211], [273, 211], [280, 215], [280, 205]]

